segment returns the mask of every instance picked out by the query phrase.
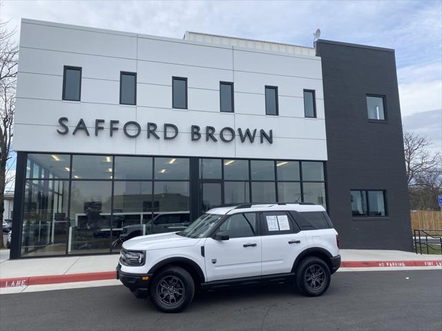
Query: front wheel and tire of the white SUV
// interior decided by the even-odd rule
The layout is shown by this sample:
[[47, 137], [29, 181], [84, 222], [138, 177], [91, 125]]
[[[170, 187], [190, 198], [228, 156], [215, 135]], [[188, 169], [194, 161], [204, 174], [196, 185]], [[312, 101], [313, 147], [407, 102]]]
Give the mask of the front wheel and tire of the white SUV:
[[193, 299], [195, 283], [183, 268], [169, 267], [155, 274], [149, 292], [158, 310], [181, 312]]

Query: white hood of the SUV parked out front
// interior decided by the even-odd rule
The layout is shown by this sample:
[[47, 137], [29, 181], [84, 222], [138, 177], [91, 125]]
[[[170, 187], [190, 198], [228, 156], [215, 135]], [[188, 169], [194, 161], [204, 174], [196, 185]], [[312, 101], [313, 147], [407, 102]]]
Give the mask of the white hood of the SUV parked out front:
[[124, 241], [123, 248], [125, 250], [158, 250], [161, 248], [193, 246], [198, 241], [200, 239], [179, 236], [177, 232], [166, 232], [129, 239]]

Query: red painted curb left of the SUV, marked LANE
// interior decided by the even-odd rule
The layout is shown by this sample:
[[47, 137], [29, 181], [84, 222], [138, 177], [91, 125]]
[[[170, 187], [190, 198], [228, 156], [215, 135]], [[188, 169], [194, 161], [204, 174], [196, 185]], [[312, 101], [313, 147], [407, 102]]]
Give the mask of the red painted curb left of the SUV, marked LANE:
[[74, 281], [103, 281], [115, 279], [115, 271], [88, 272], [84, 274], [55, 274], [50, 276], [17, 277], [0, 279], [0, 288], [17, 286], [72, 283]]

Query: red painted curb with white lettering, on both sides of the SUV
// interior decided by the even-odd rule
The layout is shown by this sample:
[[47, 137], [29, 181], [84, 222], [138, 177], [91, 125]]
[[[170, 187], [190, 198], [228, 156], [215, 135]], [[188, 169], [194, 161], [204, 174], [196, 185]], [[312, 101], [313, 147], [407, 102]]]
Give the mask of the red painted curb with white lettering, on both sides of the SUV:
[[[442, 267], [441, 260], [428, 261], [343, 261], [340, 268], [401, 268], [401, 267]], [[73, 283], [76, 281], [104, 281], [116, 279], [115, 271], [87, 272], [83, 274], [56, 274], [50, 276], [1, 278], [0, 288], [15, 288], [29, 285]]]

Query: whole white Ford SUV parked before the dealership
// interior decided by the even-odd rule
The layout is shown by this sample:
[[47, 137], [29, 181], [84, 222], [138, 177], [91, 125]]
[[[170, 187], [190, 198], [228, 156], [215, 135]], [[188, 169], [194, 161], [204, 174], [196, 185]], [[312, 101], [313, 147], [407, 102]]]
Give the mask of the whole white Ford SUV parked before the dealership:
[[294, 282], [323, 294], [338, 270], [338, 233], [320, 205], [242, 204], [209, 210], [181, 232], [123, 243], [117, 279], [135, 297], [150, 293], [164, 312], [179, 312], [196, 289]]

